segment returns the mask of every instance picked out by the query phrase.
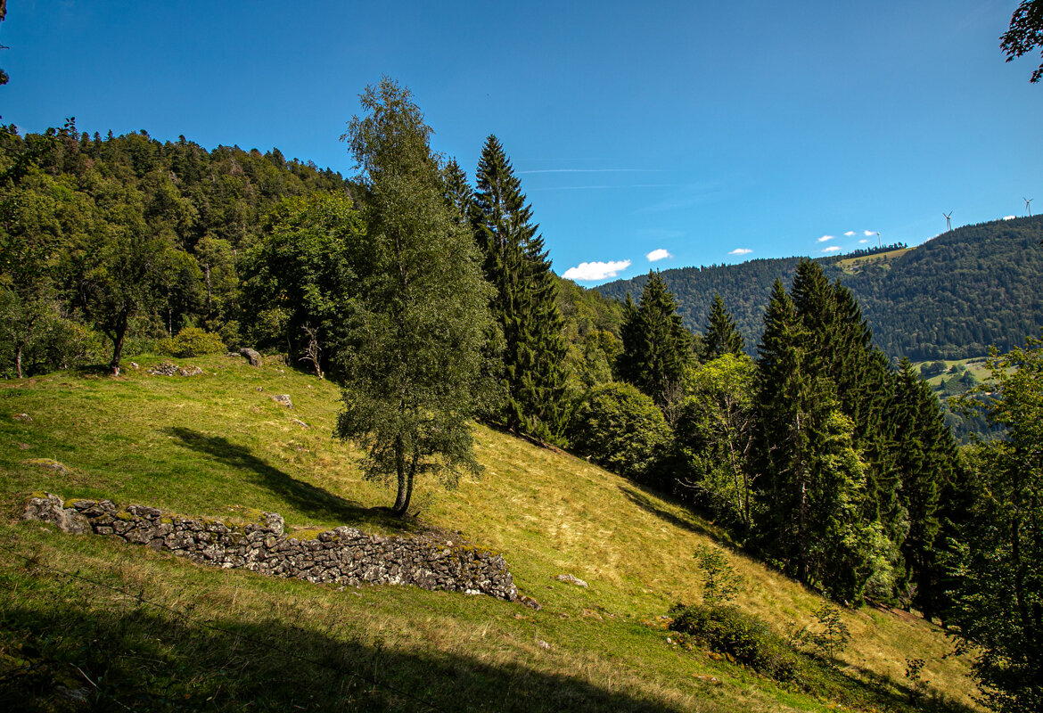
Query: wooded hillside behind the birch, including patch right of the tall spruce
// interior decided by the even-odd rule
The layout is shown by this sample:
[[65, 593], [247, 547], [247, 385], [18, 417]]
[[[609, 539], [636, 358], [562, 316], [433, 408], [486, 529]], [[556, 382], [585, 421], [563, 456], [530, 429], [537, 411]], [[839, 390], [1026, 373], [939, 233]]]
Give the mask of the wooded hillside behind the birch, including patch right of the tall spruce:
[[[25, 137], [0, 127], [0, 374], [245, 345], [336, 372], [344, 264], [331, 257], [347, 228], [289, 236], [321, 210], [364, 229], [350, 213], [361, 191], [274, 148], [91, 136], [74, 120]], [[565, 361], [603, 368], [584, 345], [614, 353], [622, 306], [550, 279]]]

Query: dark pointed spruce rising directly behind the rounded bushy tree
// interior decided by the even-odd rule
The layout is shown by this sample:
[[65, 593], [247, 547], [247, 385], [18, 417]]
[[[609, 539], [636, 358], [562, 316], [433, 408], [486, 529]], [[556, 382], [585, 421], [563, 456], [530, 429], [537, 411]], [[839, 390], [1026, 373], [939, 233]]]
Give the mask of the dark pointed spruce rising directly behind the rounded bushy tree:
[[640, 302], [628, 302], [617, 371], [655, 400], [673, 420], [671, 408], [683, 396], [684, 367], [692, 336], [677, 314], [677, 299], [657, 272], [649, 272]]

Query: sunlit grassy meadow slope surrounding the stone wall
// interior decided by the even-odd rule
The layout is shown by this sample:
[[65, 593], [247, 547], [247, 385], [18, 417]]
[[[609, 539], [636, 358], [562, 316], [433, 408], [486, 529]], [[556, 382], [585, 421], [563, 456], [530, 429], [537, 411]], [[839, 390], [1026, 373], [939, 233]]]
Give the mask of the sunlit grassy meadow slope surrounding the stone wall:
[[[239, 358], [178, 363], [205, 373], [0, 386], [0, 708], [64, 710], [51, 695], [60, 684], [106, 710], [425, 710], [410, 695], [454, 711], [905, 710], [906, 658], [927, 662], [936, 696], [971, 703], [967, 661], [948, 656], [941, 631], [891, 611], [845, 613], [852, 644], [810, 692], [668, 643], [661, 617], [700, 598], [701, 545], [725, 548], [743, 582], [736, 604], [782, 635], [810, 623], [821, 599], [670, 499], [484, 427], [482, 477], [451, 491], [419, 483], [411, 510], [422, 522], [406, 528], [459, 531], [503, 552], [538, 612], [211, 569], [18, 521], [29, 494], [48, 490], [225, 520], [274, 511], [288, 528], [403, 528], [383, 509], [393, 492], [363, 481], [358, 453], [332, 437], [334, 386]], [[293, 410], [270, 399], [281, 393]], [[566, 572], [589, 587], [555, 579]]]

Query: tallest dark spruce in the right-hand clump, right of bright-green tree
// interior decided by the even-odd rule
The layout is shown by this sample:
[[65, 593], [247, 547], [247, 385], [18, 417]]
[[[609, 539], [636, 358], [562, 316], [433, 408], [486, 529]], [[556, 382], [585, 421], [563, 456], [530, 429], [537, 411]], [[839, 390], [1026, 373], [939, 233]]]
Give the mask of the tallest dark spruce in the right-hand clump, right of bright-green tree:
[[757, 361], [762, 516], [756, 539], [784, 571], [851, 600], [878, 567], [882, 534], [860, 516], [865, 464], [815, 344], [776, 280]]

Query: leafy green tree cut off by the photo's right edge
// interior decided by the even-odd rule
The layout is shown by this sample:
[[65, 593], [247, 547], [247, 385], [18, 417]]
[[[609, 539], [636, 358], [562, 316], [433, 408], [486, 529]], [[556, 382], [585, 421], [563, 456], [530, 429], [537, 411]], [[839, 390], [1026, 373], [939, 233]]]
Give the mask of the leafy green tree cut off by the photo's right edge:
[[977, 654], [983, 700], [1027, 713], [1043, 707], [1043, 341], [993, 352], [988, 366], [990, 384], [963, 403], [1006, 433], [969, 451], [972, 505], [950, 560], [949, 622]]

